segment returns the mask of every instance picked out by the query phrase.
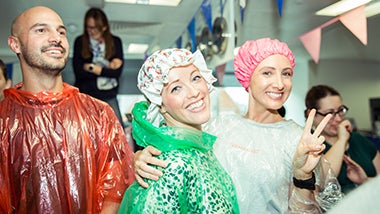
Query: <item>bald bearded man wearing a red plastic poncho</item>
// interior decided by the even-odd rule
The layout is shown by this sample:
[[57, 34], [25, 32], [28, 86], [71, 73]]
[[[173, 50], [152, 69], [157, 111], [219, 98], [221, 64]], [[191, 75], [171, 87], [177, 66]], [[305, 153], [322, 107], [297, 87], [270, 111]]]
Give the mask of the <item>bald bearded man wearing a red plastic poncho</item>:
[[111, 107], [62, 81], [66, 28], [50, 8], [17, 16], [22, 82], [0, 102], [0, 213], [116, 213], [133, 153]]

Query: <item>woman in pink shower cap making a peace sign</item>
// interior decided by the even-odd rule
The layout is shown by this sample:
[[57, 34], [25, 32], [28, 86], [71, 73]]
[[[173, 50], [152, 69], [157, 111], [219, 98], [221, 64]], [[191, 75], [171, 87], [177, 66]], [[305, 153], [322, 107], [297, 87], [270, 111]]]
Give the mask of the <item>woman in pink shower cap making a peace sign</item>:
[[[325, 186], [315, 184], [316, 177], [326, 180], [331, 173], [315, 169], [322, 167], [324, 138], [319, 134], [331, 115], [311, 134], [315, 110], [303, 131], [277, 111], [290, 95], [294, 66], [286, 43], [270, 38], [245, 42], [234, 58], [234, 68], [249, 93], [248, 112], [220, 115], [205, 126], [205, 131], [217, 136], [213, 151], [232, 177], [241, 213], [318, 213], [321, 204], [330, 204], [316, 201], [316, 192], [323, 192]], [[136, 180], [145, 187], [142, 177], [157, 180], [162, 175], [147, 163], [165, 167], [164, 161], [152, 157], [157, 154], [160, 151], [153, 147], [136, 153]]]

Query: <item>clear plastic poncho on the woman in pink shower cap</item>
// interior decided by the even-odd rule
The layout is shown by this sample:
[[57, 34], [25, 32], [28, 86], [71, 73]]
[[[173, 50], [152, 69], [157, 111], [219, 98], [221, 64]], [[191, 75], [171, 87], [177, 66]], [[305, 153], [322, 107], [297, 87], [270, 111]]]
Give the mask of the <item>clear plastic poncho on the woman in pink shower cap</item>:
[[[320, 212], [320, 204], [328, 209], [340, 199], [340, 195], [328, 195], [329, 188], [339, 188], [332, 194], [340, 193], [331, 173], [321, 173], [320, 204], [295, 194], [290, 199], [292, 159], [303, 132], [294, 121], [263, 124], [240, 115], [220, 115], [204, 130], [218, 137], [214, 153], [232, 177], [241, 213], [288, 213], [289, 200], [295, 213], [308, 212], [305, 207]], [[324, 172], [330, 172], [328, 165], [323, 166]]]

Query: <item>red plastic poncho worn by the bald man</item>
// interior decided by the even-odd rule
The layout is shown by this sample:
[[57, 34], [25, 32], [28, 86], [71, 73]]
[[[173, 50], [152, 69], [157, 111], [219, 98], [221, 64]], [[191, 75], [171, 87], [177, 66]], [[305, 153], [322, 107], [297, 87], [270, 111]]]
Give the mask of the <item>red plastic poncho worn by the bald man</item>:
[[99, 213], [133, 182], [133, 153], [112, 109], [77, 88], [0, 102], [0, 213]]

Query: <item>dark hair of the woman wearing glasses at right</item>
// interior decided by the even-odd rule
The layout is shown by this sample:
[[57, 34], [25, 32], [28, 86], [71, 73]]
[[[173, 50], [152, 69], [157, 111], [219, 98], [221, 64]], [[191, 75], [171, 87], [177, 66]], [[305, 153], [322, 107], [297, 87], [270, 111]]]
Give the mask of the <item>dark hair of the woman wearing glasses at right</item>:
[[305, 117], [307, 118], [307, 110], [319, 109], [319, 101], [327, 96], [339, 96], [340, 94], [334, 88], [327, 85], [316, 85], [310, 88], [305, 97]]

